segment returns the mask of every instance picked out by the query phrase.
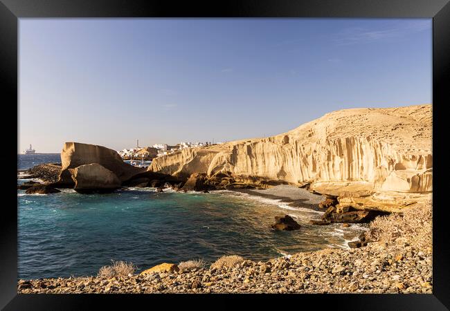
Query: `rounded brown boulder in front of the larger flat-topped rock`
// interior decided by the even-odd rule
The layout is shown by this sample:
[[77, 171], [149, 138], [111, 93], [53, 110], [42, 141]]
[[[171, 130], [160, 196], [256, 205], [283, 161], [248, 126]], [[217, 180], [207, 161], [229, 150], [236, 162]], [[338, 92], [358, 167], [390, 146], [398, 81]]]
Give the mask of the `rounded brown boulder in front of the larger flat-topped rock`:
[[98, 163], [80, 165], [69, 171], [75, 182], [73, 189], [81, 194], [112, 192], [121, 185], [115, 173]]

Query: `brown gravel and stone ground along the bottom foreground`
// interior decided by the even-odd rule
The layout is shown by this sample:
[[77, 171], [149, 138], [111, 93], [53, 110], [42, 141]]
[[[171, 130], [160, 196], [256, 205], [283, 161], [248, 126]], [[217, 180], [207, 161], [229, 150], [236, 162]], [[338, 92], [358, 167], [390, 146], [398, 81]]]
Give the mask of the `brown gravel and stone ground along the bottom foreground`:
[[431, 249], [369, 243], [234, 267], [19, 281], [19, 293], [432, 293]]

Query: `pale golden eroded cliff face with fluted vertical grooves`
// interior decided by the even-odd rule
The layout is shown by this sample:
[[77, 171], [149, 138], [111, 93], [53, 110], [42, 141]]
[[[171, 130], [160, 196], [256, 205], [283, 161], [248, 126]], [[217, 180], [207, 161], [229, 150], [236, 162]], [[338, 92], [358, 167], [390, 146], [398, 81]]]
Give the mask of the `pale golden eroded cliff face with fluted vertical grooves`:
[[373, 193], [428, 193], [433, 187], [431, 129], [430, 104], [346, 109], [273, 137], [156, 158], [149, 170], [182, 176], [231, 171], [244, 182], [311, 182], [321, 193], [348, 191], [342, 182]]

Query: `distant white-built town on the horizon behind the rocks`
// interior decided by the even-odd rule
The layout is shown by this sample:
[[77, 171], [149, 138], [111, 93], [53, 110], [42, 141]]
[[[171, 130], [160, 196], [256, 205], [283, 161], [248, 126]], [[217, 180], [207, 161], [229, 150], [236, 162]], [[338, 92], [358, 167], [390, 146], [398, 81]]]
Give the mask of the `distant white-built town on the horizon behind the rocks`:
[[139, 140], [136, 148], [123, 149], [118, 151], [123, 160], [152, 160], [157, 157], [166, 156], [170, 153], [175, 153], [183, 149], [207, 147], [214, 144], [223, 144], [223, 142], [180, 142], [179, 144], [154, 144], [152, 147], [139, 147]]

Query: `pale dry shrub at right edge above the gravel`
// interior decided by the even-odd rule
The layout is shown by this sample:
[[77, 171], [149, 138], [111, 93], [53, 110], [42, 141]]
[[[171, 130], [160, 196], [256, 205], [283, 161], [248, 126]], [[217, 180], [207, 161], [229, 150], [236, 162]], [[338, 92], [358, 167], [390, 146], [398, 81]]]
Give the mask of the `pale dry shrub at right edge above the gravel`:
[[397, 238], [426, 251], [433, 245], [431, 202], [405, 209], [403, 213], [379, 216], [370, 223], [368, 238], [393, 244]]

